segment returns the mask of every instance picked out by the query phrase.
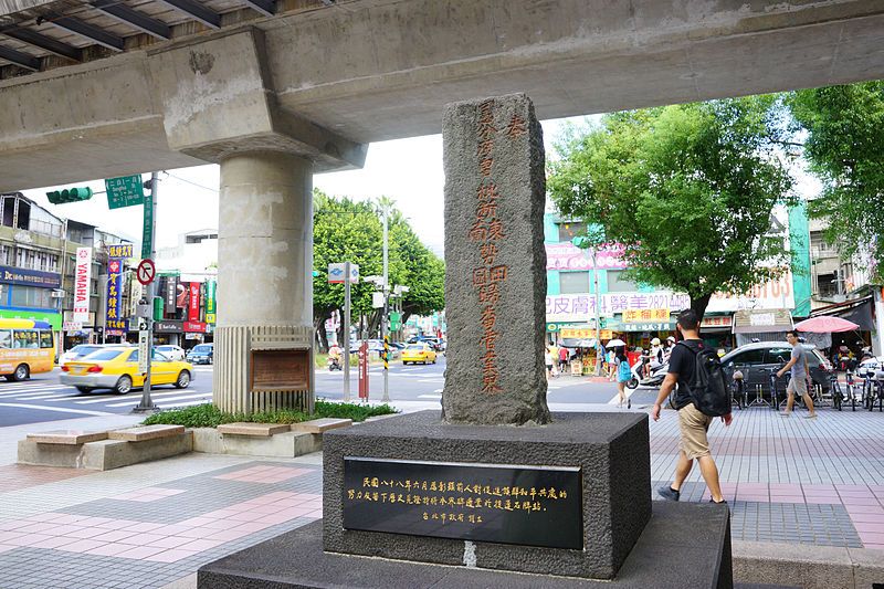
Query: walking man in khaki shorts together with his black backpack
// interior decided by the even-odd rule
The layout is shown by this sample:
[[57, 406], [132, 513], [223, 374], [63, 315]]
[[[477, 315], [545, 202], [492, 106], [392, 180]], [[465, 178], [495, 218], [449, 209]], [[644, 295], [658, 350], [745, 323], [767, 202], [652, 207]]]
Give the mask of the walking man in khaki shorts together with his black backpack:
[[[669, 501], [678, 501], [681, 488], [694, 460], [712, 495], [712, 503], [726, 503], [718, 484], [718, 467], [709, 452], [706, 433], [714, 417], [730, 425], [730, 396], [720, 361], [715, 350], [699, 338], [699, 317], [694, 309], [678, 314], [676, 327], [683, 339], [673, 348], [666, 378], [660, 388], [651, 417], [660, 419], [662, 403], [675, 388], [674, 406], [678, 411], [678, 461], [671, 485], [657, 488], [657, 494]], [[676, 388], [677, 386], [677, 388]]]

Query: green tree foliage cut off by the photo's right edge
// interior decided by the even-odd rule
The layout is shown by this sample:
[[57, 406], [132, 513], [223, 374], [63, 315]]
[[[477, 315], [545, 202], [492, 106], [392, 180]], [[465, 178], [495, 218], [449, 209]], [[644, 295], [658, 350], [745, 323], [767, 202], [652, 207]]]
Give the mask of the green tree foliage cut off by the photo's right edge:
[[812, 218], [827, 219], [825, 238], [850, 257], [867, 252], [884, 277], [884, 82], [791, 94], [788, 105], [807, 132], [804, 158], [823, 185]]

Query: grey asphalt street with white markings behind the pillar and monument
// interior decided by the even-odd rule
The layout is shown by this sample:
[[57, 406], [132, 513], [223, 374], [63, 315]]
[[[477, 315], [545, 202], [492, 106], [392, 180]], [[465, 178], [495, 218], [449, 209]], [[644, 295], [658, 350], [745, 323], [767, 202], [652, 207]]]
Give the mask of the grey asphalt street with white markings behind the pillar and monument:
[[[211, 366], [194, 367], [193, 381], [187, 389], [161, 386], [152, 389], [151, 399], [160, 408], [188, 407], [212, 399]], [[427, 366], [390, 364], [388, 375], [390, 403], [401, 409], [439, 408], [444, 387], [445, 358]], [[60, 421], [106, 413], [128, 413], [141, 399], [141, 390], [128, 395], [110, 391], [81, 393], [75, 388], [59, 382], [60, 370], [34, 375], [31, 380], [8, 382], [0, 380], [0, 427], [45, 421]], [[358, 376], [350, 371], [350, 399], [358, 400]], [[586, 378], [561, 376], [549, 381], [550, 406], [609, 403], [617, 395], [612, 382], [589, 382]], [[380, 365], [369, 368], [369, 401], [383, 396], [383, 370]], [[344, 399], [344, 372], [316, 370], [316, 397], [340, 401]], [[633, 406], [653, 402], [653, 391], [636, 391]]]

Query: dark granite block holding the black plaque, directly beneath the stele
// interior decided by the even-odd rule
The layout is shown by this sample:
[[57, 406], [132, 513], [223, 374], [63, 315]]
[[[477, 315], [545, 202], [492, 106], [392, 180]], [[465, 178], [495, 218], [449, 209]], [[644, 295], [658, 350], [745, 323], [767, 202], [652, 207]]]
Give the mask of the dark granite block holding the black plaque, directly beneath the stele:
[[[567, 505], [567, 513], [572, 514], [576, 526], [571, 522], [567, 525], [561, 523], [558, 525], [561, 538], [550, 538], [556, 534], [555, 529], [550, 530], [556, 520], [554, 516], [558, 515], [561, 522], [562, 514], [554, 513], [549, 506], [545, 513], [541, 511], [522, 519], [514, 517], [501, 524], [507, 530], [503, 535], [483, 537], [464, 530], [460, 536], [438, 534], [434, 537], [423, 532], [427, 524], [434, 524], [424, 520], [436, 515], [433, 506], [403, 505], [401, 502], [411, 501], [410, 494], [415, 493], [401, 487], [397, 490], [399, 504], [390, 505], [383, 501], [360, 504], [370, 507], [376, 519], [386, 519], [386, 529], [349, 525], [346, 512], [360, 497], [359, 488], [347, 484], [347, 459], [417, 461], [430, 464], [431, 472], [433, 464], [440, 465], [442, 471], [442, 465], [452, 463], [465, 470], [470, 465], [478, 469], [495, 465], [573, 469], [579, 480], [577, 486], [570, 488], [576, 492], [569, 492], [567, 503], [559, 502], [557, 508]], [[369, 471], [360, 472], [364, 473], [360, 481], [370, 480]], [[396, 469], [385, 472], [396, 472]], [[402, 467], [402, 472], [408, 471]], [[364, 475], [367, 478], [362, 478]], [[383, 492], [382, 483], [390, 476], [380, 471], [377, 476], [381, 487], [373, 491]], [[421, 478], [410, 474], [406, 477]], [[425, 478], [445, 477], [440, 474]], [[487, 491], [494, 493], [495, 483], [491, 485]], [[558, 484], [555, 486], [561, 488]], [[329, 553], [459, 566], [465, 558], [464, 540], [474, 540], [466, 558], [480, 568], [538, 575], [556, 571], [564, 577], [610, 579], [617, 575], [651, 517], [650, 486], [651, 456], [645, 413], [555, 413], [554, 421], [543, 427], [449, 424], [440, 420], [439, 411], [409, 413], [325, 434], [323, 548]], [[389, 499], [389, 488], [387, 491]], [[349, 493], [357, 493], [357, 496], [351, 498]], [[488, 494], [483, 493], [482, 497], [487, 498]], [[383, 497], [379, 495], [379, 498]], [[498, 495], [492, 498], [499, 501], [505, 508], [509, 497]], [[409, 508], [411, 513], [403, 513]], [[488, 518], [487, 511], [466, 508], [461, 512], [466, 517], [484, 513]], [[448, 532], [449, 524], [444, 526]], [[397, 530], [399, 533], [394, 533]], [[564, 541], [566, 536], [570, 538], [575, 533], [576, 543]], [[557, 539], [562, 541], [549, 541]]]

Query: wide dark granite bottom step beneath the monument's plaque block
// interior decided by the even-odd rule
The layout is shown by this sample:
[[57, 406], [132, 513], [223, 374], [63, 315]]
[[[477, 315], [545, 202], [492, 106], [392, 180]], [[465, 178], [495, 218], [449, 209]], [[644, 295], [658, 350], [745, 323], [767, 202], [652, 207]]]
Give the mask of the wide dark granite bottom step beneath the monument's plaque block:
[[[503, 572], [324, 553], [315, 522], [200, 568], [199, 589], [385, 587], [434, 589], [733, 587], [727, 507], [655, 502], [653, 515], [611, 581]], [[555, 562], [550, 562], [555, 566]]]

